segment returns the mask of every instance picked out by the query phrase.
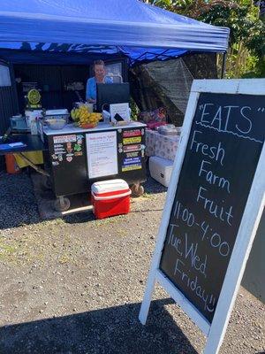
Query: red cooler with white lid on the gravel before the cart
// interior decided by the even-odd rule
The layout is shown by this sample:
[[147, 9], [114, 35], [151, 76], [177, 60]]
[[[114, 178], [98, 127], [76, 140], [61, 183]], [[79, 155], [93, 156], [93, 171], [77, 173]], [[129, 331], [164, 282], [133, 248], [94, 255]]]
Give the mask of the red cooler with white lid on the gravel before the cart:
[[131, 189], [124, 180], [95, 182], [91, 186], [91, 201], [96, 219], [130, 212]]

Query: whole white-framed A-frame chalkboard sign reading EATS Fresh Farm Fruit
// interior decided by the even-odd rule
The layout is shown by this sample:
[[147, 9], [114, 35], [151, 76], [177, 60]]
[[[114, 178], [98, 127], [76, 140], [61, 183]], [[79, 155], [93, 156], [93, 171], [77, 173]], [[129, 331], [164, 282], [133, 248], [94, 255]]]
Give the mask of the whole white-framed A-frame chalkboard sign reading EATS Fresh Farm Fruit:
[[140, 321], [158, 281], [220, 348], [264, 206], [265, 80], [194, 81]]

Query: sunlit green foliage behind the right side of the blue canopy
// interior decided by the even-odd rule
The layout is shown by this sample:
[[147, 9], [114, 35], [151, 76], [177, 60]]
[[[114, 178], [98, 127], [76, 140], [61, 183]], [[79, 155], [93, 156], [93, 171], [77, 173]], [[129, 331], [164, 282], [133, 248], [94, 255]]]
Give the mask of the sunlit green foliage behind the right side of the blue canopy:
[[265, 21], [252, 0], [156, 0], [156, 6], [214, 26], [229, 27], [228, 77], [265, 76]]

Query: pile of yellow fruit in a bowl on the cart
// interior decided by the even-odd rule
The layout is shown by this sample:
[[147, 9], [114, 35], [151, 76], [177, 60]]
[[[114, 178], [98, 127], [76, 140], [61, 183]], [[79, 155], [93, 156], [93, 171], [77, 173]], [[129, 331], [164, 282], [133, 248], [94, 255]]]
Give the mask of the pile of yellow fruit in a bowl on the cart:
[[72, 120], [78, 127], [95, 127], [102, 119], [102, 113], [89, 112], [87, 105], [80, 105], [79, 108], [73, 108], [71, 111]]

